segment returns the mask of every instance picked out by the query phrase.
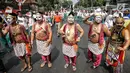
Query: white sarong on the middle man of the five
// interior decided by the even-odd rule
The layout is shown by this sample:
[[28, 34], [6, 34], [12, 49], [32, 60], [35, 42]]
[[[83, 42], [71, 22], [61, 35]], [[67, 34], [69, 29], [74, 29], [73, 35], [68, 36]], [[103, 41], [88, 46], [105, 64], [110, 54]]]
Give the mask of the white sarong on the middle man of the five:
[[62, 52], [64, 55], [69, 56], [69, 57], [74, 57], [76, 56], [76, 52], [74, 50], [73, 46], [63, 44], [62, 46]]

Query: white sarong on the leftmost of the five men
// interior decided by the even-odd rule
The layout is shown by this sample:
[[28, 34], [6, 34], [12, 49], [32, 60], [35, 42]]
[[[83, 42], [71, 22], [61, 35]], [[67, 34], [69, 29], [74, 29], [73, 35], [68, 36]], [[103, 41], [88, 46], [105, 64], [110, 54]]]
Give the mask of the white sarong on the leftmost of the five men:
[[16, 43], [14, 46], [14, 52], [17, 57], [24, 56], [26, 54], [26, 45], [25, 43]]

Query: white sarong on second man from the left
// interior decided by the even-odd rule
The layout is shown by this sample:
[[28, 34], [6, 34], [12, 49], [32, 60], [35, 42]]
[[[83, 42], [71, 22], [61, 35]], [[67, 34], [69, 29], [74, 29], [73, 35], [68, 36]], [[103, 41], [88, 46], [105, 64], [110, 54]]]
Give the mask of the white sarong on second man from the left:
[[48, 56], [51, 53], [51, 45], [46, 47], [46, 41], [36, 40], [37, 52], [41, 55]]

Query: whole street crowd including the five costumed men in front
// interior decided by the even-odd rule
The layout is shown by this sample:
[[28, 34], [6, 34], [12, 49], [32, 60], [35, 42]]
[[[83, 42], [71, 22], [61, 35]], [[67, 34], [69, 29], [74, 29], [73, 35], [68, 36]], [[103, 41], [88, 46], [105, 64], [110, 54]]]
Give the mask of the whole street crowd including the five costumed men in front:
[[[101, 8], [97, 8], [93, 12], [87, 10], [60, 10], [44, 13], [33, 11], [24, 15], [20, 11], [1, 14], [1, 48], [13, 48], [15, 55], [23, 63], [21, 72], [27, 68], [30, 72], [33, 70], [31, 50], [35, 40], [37, 52], [43, 60], [40, 67], [44, 67], [47, 63], [50, 68], [53, 65], [51, 62], [52, 27], [56, 26], [57, 37], [62, 37], [63, 40], [64, 68], [68, 68], [72, 64], [73, 71], [76, 71], [77, 43], [85, 34], [84, 30], [87, 30], [83, 30], [78, 22], [84, 22], [90, 26], [87, 63], [93, 62], [92, 68], [94, 69], [99, 67], [102, 53], [106, 51], [106, 66], [111, 66], [113, 73], [123, 73], [125, 50], [130, 44], [129, 10], [102, 11]], [[9, 39], [4, 36], [8, 36]], [[8, 45], [8, 47], [5, 45]], [[93, 59], [93, 55], [95, 59]], [[3, 63], [0, 64], [0, 67], [0, 70], [6, 73]]]

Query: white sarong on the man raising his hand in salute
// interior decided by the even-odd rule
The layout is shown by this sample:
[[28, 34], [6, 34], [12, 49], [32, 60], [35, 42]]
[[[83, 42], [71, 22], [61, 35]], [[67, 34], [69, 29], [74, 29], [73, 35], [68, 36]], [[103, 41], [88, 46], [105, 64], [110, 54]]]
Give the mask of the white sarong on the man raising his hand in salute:
[[[103, 46], [105, 47], [105, 41]], [[91, 41], [88, 41], [88, 49], [95, 55], [103, 53], [104, 47], [102, 49], [99, 49], [98, 43], [92, 43]]]

